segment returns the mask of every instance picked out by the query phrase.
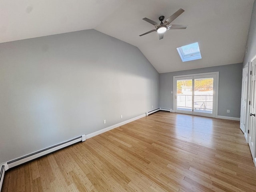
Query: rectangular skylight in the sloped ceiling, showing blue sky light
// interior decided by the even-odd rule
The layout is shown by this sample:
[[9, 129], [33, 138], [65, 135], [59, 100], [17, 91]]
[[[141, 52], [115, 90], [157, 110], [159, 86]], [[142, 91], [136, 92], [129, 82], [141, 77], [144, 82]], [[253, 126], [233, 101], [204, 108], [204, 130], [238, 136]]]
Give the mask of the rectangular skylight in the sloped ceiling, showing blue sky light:
[[177, 48], [182, 62], [202, 59], [198, 42]]

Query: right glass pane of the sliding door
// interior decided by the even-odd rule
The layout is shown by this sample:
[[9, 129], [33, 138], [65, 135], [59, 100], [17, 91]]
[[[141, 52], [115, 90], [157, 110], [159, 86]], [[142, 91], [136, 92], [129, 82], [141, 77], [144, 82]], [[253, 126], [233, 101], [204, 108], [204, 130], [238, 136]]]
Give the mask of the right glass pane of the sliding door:
[[194, 79], [194, 112], [212, 114], [213, 109], [213, 79]]

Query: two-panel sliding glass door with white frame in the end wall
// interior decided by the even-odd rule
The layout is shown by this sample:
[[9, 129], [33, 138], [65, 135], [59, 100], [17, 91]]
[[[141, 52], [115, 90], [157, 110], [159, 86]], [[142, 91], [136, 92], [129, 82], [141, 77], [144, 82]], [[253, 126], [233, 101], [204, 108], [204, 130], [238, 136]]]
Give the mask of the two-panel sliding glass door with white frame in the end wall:
[[174, 77], [174, 110], [179, 113], [216, 116], [217, 74]]

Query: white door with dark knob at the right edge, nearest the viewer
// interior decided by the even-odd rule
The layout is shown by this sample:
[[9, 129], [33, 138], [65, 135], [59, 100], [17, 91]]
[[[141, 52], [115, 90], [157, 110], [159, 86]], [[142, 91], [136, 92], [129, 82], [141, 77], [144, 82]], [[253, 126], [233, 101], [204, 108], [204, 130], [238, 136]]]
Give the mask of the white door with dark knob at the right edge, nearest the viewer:
[[252, 62], [252, 75], [250, 80], [250, 117], [249, 117], [249, 146], [255, 162], [256, 142], [256, 59]]

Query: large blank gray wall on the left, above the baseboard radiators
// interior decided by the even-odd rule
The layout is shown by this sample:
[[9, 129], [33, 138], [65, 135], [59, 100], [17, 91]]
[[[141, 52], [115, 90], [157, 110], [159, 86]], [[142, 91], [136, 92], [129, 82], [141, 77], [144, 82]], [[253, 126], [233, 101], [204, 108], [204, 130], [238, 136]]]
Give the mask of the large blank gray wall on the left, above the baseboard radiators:
[[140, 50], [96, 30], [2, 43], [0, 162], [158, 108], [158, 93]]

